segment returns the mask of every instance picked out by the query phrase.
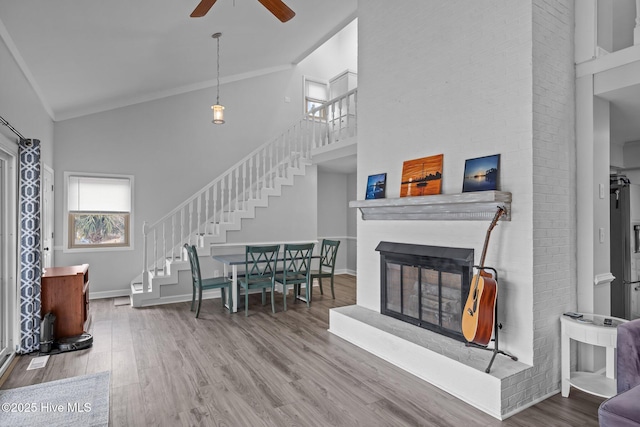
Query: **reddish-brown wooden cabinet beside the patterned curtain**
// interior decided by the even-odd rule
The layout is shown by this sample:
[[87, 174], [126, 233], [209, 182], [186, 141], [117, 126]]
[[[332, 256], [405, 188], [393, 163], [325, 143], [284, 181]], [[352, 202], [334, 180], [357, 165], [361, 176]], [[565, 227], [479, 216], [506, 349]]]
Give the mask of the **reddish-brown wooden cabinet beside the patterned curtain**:
[[50, 267], [42, 275], [42, 315], [56, 316], [55, 338], [81, 335], [89, 327], [89, 264]]

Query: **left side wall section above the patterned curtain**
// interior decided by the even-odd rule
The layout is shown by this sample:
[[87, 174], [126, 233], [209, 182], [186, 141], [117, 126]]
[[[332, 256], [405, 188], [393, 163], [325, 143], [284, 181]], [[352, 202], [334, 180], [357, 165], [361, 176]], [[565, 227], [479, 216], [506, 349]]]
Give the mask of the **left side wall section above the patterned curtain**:
[[[2, 39], [0, 76], [0, 116], [25, 138], [39, 139], [42, 161], [52, 166], [53, 120]], [[17, 137], [6, 126], [0, 126], [0, 133], [10, 141], [17, 141]]]

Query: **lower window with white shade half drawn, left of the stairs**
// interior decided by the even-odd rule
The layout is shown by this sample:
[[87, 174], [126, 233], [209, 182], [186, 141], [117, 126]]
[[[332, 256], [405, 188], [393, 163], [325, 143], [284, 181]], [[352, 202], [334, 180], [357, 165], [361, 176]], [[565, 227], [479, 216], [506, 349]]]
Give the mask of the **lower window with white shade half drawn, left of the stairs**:
[[130, 248], [133, 176], [65, 172], [68, 249]]

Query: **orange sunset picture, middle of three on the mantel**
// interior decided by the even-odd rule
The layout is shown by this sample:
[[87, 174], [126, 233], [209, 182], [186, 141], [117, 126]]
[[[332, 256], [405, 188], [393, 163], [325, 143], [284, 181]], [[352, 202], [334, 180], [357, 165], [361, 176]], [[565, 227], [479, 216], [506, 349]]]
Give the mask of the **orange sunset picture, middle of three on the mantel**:
[[407, 160], [402, 165], [400, 197], [427, 196], [442, 191], [442, 154]]

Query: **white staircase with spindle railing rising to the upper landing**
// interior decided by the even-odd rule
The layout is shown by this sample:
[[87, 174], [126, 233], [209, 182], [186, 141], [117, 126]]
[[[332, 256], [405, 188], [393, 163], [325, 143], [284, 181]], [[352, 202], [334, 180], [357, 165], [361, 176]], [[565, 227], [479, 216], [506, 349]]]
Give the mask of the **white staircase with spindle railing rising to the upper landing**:
[[145, 222], [142, 273], [131, 282], [131, 305], [170, 302], [160, 289], [177, 285], [178, 273], [190, 268], [185, 243], [209, 257], [212, 244], [226, 243], [227, 232], [240, 231], [243, 219], [255, 218], [257, 207], [267, 207], [270, 197], [304, 175], [314, 152], [356, 136], [356, 104], [354, 89], [311, 110], [160, 220]]

